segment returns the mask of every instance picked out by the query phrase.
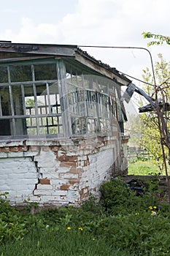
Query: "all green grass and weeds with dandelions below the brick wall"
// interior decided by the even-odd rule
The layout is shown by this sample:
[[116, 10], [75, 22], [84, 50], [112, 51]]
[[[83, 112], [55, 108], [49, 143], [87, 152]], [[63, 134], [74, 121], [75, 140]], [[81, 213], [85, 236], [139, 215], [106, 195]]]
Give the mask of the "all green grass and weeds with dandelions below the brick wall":
[[136, 196], [114, 178], [101, 185], [99, 202], [91, 196], [80, 208], [36, 214], [1, 199], [0, 255], [170, 255], [170, 206], [152, 188]]

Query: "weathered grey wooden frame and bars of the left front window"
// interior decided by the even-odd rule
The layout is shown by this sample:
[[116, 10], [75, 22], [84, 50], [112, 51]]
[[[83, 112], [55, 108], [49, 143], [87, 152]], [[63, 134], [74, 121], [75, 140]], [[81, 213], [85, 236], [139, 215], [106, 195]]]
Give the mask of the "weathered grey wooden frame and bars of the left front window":
[[[35, 75], [34, 75], [34, 65], [39, 65], [39, 64], [55, 64], [55, 70], [56, 70], [56, 79], [55, 80], [35, 80]], [[26, 66], [28, 65], [29, 67], [31, 67], [31, 75], [32, 75], [32, 80], [31, 81], [19, 81], [19, 82], [12, 82], [10, 79], [10, 67], [19, 67], [19, 66]], [[60, 130], [63, 129], [63, 122], [60, 121], [59, 122], [59, 118], [62, 118], [62, 113], [52, 113], [51, 111], [51, 106], [50, 105], [50, 90], [49, 87], [50, 85], [53, 84], [57, 84], [58, 85], [58, 75], [60, 76], [60, 74], [58, 73], [58, 60], [54, 60], [54, 59], [41, 59], [41, 60], [31, 60], [31, 61], [12, 61], [12, 62], [7, 62], [7, 63], [2, 63], [0, 64], [0, 67], [7, 67], [7, 75], [8, 75], [8, 83], [0, 83], [1, 88], [5, 88], [7, 90], [9, 90], [9, 108], [11, 110], [11, 113], [7, 116], [3, 115], [3, 111], [2, 111], [2, 106], [1, 106], [1, 97], [0, 97], [0, 120], [8, 120], [9, 121], [9, 126], [10, 126], [10, 135], [6, 135], [6, 134], [2, 134], [0, 135], [0, 140], [6, 140], [7, 138], [12, 138], [12, 139], [22, 139], [22, 138], [45, 138], [45, 137], [49, 137], [49, 138], [53, 138], [53, 137], [63, 137], [63, 132], [61, 132], [60, 134]], [[39, 107], [37, 104], [37, 97], [39, 97], [39, 93], [36, 91], [36, 86], [39, 85], [43, 85], [46, 88], [46, 95], [47, 95], [47, 105], [45, 104], [45, 108], [48, 108], [48, 113], [39, 113], [39, 109], [42, 108], [41, 106]], [[23, 114], [18, 115], [17, 113], [15, 113], [14, 110], [14, 95], [12, 94], [12, 89], [16, 88], [15, 86], [19, 86], [20, 91], [21, 91], [21, 97], [22, 97], [22, 108], [23, 108]], [[30, 114], [26, 114], [26, 109], [28, 109], [26, 107], [26, 95], [24, 94], [24, 89], [26, 89], [26, 86], [31, 86], [30, 89], [33, 90], [33, 94], [31, 95], [31, 97], [34, 98], [34, 109], [35, 109], [35, 113], [33, 115]], [[59, 86], [58, 86], [59, 87]], [[61, 91], [58, 88], [58, 91], [55, 92], [55, 97], [58, 97], [57, 95], [59, 95], [59, 99], [62, 100], [61, 97]], [[56, 109], [58, 109], [59, 107], [61, 108], [61, 102], [60, 104], [57, 105], [56, 103]], [[26, 118], [35, 118], [36, 119], [36, 134], [35, 135], [29, 135], [28, 134], [28, 130], [26, 132], [26, 129], [28, 129], [28, 126], [26, 125]], [[57, 124], [56, 125], [50, 125], [50, 126], [44, 126], [44, 128], [49, 129], [50, 127], [55, 127], [57, 132], [55, 132], [54, 134], [52, 133], [45, 133], [41, 135], [40, 132], [40, 127], [39, 127], [39, 118], [56, 118]], [[21, 122], [25, 122], [25, 124], [23, 124], [23, 134], [22, 135], [18, 135], [18, 132], [16, 131], [17, 127], [16, 127], [16, 122], [20, 120]], [[43, 126], [42, 126], [43, 127]], [[25, 130], [24, 130], [25, 129]], [[26, 134], [27, 133], [27, 134]]]

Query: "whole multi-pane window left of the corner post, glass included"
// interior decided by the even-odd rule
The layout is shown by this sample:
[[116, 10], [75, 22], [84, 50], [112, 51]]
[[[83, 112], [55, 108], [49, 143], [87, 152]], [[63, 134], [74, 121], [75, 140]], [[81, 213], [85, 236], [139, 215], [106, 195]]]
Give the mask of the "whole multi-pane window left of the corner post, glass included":
[[56, 63], [1, 66], [0, 83], [0, 135], [63, 133]]

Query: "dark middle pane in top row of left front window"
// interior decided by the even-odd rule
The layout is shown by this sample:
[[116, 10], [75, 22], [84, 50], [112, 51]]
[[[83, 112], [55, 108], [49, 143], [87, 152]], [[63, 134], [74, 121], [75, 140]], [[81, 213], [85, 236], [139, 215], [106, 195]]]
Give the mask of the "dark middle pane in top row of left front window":
[[11, 66], [10, 69], [10, 77], [12, 82], [23, 82], [23, 81], [31, 81], [31, 65], [27, 66]]

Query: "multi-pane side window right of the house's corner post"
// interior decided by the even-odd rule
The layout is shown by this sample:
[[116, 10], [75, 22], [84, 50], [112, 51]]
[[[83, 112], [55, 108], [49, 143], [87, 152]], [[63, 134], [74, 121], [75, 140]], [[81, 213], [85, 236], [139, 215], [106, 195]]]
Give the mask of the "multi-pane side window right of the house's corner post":
[[[71, 119], [72, 136], [82, 137], [94, 134], [99, 136], [112, 135], [113, 125], [116, 124], [115, 120], [117, 120], [119, 111], [121, 112], [121, 108], [117, 108], [115, 110], [115, 107], [119, 105], [117, 102], [119, 99], [117, 99], [116, 93], [117, 83], [100, 74], [94, 74], [93, 72], [90, 73], [89, 70], [87, 72], [87, 70], [83, 70], [81, 67], [80, 69], [78, 69], [78, 67], [77, 69], [73, 67], [74, 72], [72, 75], [72, 64], [66, 63], [66, 65], [68, 98], [71, 97], [71, 94], [74, 94], [74, 97], [71, 97], [74, 98], [74, 102], [71, 100], [72, 104], [69, 105], [69, 117]], [[69, 72], [67, 72], [68, 69], [70, 70]], [[80, 80], [78, 80], [78, 78], [80, 78]], [[84, 91], [84, 95], [88, 95], [88, 97], [84, 98], [81, 104], [78, 101], [78, 91]], [[110, 98], [112, 98], [114, 105], [111, 104]], [[74, 108], [77, 108], [77, 113], [76, 111], [72, 110], [73, 104]], [[84, 115], [80, 114], [81, 105], [85, 106]], [[111, 108], [114, 109], [112, 110]], [[93, 111], [95, 109], [96, 115], [94, 115], [94, 113], [91, 115], [89, 113], [90, 109]], [[112, 124], [113, 120], [114, 124]], [[83, 127], [82, 124], [84, 124], [86, 127]], [[94, 128], [90, 129], [90, 126]], [[76, 127], [78, 128], [76, 129]]]

